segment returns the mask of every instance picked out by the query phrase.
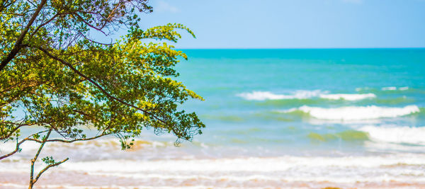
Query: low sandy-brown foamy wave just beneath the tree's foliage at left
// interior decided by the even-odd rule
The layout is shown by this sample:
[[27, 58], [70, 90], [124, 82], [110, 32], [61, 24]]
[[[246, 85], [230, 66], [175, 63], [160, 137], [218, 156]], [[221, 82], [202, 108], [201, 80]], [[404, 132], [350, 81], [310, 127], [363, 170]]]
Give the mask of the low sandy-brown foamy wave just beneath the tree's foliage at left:
[[[43, 149], [44, 153], [57, 157], [58, 159], [65, 158], [65, 155], [72, 159], [90, 161], [92, 159], [134, 159], [140, 153], [146, 153], [143, 157], [147, 159], [154, 159], [158, 156], [165, 156], [161, 153], [167, 151], [174, 151], [179, 154], [179, 151], [174, 147], [174, 141], [154, 141], [142, 140], [136, 138], [132, 142], [133, 145], [130, 149], [126, 149], [125, 153], [120, 153], [121, 144], [118, 138], [104, 137], [103, 139], [96, 139], [90, 141], [62, 143], [62, 142], [48, 142]], [[181, 144], [184, 147], [185, 144]], [[188, 144], [187, 144], [188, 145]], [[203, 144], [199, 142], [191, 143], [193, 146], [203, 148]], [[38, 150], [40, 144], [32, 141], [24, 142], [21, 145], [21, 153], [8, 157], [4, 161], [16, 161], [19, 159], [28, 159], [34, 156], [35, 151]], [[13, 151], [16, 148], [16, 142], [6, 142], [0, 145], [0, 156]], [[94, 156], [93, 152], [96, 151]], [[174, 155], [174, 154], [173, 154]], [[181, 154], [179, 154], [181, 155]], [[176, 155], [177, 156], [177, 155]]]

